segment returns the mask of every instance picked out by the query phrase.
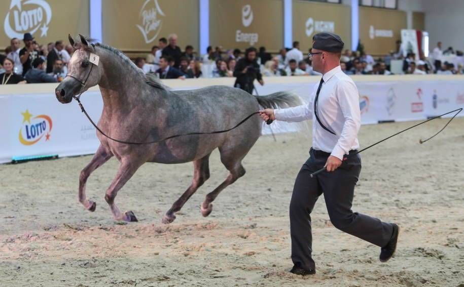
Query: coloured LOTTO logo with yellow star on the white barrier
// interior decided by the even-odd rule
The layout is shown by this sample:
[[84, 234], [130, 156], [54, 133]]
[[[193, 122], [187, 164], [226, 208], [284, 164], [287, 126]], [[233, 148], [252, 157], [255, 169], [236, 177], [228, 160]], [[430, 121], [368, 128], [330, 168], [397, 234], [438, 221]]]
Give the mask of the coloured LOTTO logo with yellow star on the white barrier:
[[19, 142], [23, 145], [33, 145], [40, 140], [49, 141], [52, 131], [52, 119], [50, 116], [41, 114], [33, 116], [26, 109], [23, 115], [21, 129], [19, 129]]

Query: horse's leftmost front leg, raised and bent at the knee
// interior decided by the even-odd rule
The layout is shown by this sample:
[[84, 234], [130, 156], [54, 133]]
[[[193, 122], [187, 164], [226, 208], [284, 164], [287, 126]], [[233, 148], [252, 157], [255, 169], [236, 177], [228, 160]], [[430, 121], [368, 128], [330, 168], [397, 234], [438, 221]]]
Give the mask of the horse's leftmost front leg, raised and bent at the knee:
[[91, 212], [95, 211], [96, 203], [92, 200], [89, 200], [85, 193], [85, 185], [87, 183], [87, 179], [93, 171], [95, 171], [98, 167], [103, 165], [103, 163], [108, 161], [108, 159], [110, 159], [112, 156], [113, 153], [100, 144], [92, 160], [81, 171], [81, 175], [79, 176], [79, 202], [82, 203], [85, 209]]

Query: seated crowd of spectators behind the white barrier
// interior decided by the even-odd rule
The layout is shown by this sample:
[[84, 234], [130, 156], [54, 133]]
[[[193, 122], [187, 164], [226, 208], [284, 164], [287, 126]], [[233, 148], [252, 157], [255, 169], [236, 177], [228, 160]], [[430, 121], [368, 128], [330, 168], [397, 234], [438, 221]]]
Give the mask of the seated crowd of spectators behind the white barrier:
[[[63, 41], [49, 43], [46, 47], [37, 44], [30, 33], [25, 33], [20, 47], [20, 39], [13, 38], [11, 46], [4, 55], [0, 54], [0, 78], [2, 85], [26, 83], [58, 83], [67, 74], [67, 62], [74, 50]], [[401, 41], [397, 41], [397, 44]], [[399, 46], [397, 46], [399, 47]], [[310, 51], [311, 49], [309, 49]], [[402, 56], [397, 53], [375, 60], [367, 53], [345, 50], [340, 59], [340, 66], [349, 75], [389, 75], [391, 59], [401, 59], [403, 67], [401, 74], [460, 74], [462, 67], [444, 62], [436, 66], [421, 56], [416, 60], [413, 53]], [[239, 49], [223, 51], [221, 46], [213, 49], [209, 46], [206, 54], [197, 55], [191, 45], [184, 52], [177, 46], [177, 35], [170, 34], [168, 38], [160, 38], [157, 46], [153, 46], [146, 58], [137, 57], [134, 63], [146, 73], [156, 73], [160, 78], [215, 78], [234, 77], [237, 62], [242, 58]], [[266, 52], [261, 47], [256, 60], [263, 76], [301, 76], [320, 75], [313, 71], [311, 60], [300, 51], [299, 42], [294, 42], [292, 48], [282, 48], [277, 55]], [[398, 72], [397, 72], [398, 73]]]

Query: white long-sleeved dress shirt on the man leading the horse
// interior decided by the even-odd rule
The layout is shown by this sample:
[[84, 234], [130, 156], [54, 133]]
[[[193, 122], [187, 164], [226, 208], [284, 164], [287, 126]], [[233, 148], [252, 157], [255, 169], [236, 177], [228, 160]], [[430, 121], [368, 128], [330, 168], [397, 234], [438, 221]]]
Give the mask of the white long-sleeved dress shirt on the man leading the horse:
[[325, 73], [319, 92], [317, 114], [320, 121], [336, 135], [324, 130], [313, 113], [315, 85], [309, 103], [297, 107], [275, 109], [277, 120], [302, 121], [312, 119], [312, 147], [343, 159], [350, 150], [359, 149], [358, 132], [361, 127], [359, 92], [353, 80], [337, 66]]

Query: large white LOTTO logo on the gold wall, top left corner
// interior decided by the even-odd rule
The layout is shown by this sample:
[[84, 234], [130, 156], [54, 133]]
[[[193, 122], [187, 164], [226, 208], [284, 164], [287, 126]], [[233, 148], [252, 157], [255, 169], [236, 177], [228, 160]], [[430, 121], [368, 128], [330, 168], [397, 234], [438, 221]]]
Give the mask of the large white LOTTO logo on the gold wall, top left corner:
[[[3, 8], [7, 7], [3, 5]], [[5, 34], [9, 38], [22, 39], [24, 33], [34, 34], [40, 29], [40, 36], [44, 37], [47, 36], [51, 19], [52, 9], [46, 0], [11, 0], [4, 20]]]

